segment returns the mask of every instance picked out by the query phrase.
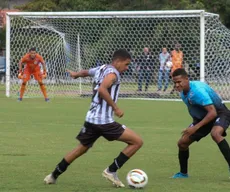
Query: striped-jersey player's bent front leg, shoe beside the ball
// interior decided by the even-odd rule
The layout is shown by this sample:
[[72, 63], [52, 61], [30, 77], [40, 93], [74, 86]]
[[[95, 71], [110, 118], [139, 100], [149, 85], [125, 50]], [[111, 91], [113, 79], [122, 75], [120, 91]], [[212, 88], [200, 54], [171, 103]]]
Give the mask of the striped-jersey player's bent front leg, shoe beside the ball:
[[124, 187], [125, 185], [119, 180], [116, 172], [141, 148], [143, 141], [134, 131], [116, 122], [110, 127], [105, 127], [102, 132], [102, 135], [109, 141], [118, 140], [128, 144], [102, 173], [117, 187]]

